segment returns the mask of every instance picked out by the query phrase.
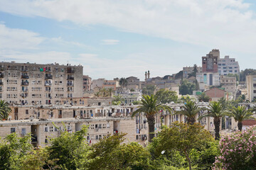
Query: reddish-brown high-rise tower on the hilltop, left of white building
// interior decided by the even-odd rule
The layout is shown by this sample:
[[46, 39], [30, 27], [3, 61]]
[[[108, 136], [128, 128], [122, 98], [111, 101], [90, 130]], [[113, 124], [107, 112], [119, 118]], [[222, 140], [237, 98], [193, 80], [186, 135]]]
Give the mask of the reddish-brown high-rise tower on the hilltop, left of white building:
[[218, 59], [220, 51], [213, 49], [206, 57], [202, 57], [202, 72], [218, 72]]

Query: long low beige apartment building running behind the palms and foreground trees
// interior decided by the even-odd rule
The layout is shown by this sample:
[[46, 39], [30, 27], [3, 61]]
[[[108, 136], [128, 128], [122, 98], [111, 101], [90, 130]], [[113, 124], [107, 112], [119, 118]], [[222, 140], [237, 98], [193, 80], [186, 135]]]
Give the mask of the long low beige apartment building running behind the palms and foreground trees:
[[[180, 111], [182, 104], [169, 104], [174, 111]], [[208, 103], [198, 103], [199, 107], [207, 107]], [[18, 120], [0, 122], [0, 137], [11, 132], [23, 136], [31, 132], [33, 145], [45, 147], [49, 139], [58, 137], [60, 132], [76, 132], [82, 125], [88, 125], [87, 142], [98, 142], [102, 137], [117, 132], [125, 132], [126, 142], [139, 142], [146, 145], [148, 140], [148, 124], [142, 114], [131, 118], [137, 106], [11, 106], [13, 117]], [[199, 113], [198, 116], [204, 114]], [[155, 130], [159, 132], [161, 125], [171, 125], [174, 121], [186, 122], [186, 116], [173, 115], [162, 111], [156, 115]], [[213, 118], [199, 121], [206, 130], [213, 132]], [[53, 125], [54, 123], [54, 125]]]

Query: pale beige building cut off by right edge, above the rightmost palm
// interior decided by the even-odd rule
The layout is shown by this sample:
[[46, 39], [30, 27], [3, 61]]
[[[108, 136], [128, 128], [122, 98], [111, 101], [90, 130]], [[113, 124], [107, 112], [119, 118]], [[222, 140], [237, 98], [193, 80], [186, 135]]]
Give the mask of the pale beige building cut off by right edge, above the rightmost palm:
[[246, 76], [247, 98], [249, 101], [256, 99], [256, 75]]

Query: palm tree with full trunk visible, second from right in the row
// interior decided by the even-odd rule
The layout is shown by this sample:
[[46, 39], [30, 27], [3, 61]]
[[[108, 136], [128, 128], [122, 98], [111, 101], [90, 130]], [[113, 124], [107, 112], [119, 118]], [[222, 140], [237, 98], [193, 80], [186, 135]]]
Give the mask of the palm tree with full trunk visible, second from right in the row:
[[215, 140], [220, 139], [220, 119], [225, 116], [225, 107], [222, 103], [213, 101], [209, 104], [209, 108], [206, 108], [208, 113], [201, 115], [198, 120], [205, 117], [212, 117], [215, 127]]

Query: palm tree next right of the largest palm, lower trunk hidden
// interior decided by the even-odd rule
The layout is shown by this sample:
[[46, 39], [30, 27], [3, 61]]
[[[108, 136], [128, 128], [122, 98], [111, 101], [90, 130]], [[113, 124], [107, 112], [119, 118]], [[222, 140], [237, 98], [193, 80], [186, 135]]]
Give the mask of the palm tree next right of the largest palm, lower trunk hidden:
[[176, 115], [186, 115], [188, 124], [193, 125], [196, 123], [196, 115], [203, 111], [203, 108], [199, 108], [194, 101], [187, 101], [184, 106], [182, 106], [182, 111], [176, 111]]

